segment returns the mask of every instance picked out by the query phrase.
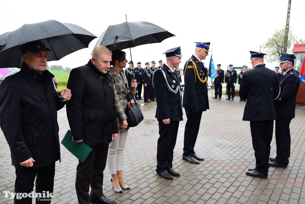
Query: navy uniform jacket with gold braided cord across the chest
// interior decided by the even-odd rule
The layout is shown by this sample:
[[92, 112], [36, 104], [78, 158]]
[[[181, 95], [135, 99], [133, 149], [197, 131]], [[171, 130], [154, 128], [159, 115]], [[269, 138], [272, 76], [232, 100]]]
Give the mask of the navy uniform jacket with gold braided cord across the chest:
[[194, 55], [184, 65], [184, 94], [182, 106], [187, 109], [210, 109], [207, 87], [208, 70]]

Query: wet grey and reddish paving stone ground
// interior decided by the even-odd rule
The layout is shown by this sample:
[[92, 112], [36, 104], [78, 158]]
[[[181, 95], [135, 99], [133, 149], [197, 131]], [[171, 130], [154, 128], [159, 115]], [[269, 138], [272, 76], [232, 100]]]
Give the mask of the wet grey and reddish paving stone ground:
[[[117, 203], [305, 203], [305, 106], [296, 106], [296, 117], [291, 121], [291, 156], [286, 169], [270, 167], [268, 178], [246, 176], [255, 166], [249, 121], [242, 121], [245, 102], [212, 99], [210, 109], [203, 112], [195, 146], [203, 156], [200, 164], [182, 160], [186, 122], [180, 122], [173, 169], [181, 173], [174, 180], [156, 174], [156, 146], [158, 122], [156, 102], [141, 103], [144, 120], [128, 132], [124, 151], [124, 179], [131, 190], [115, 193], [110, 174], [104, 171], [103, 192]], [[63, 139], [69, 125], [66, 109], [58, 111], [59, 135]], [[3, 191], [14, 191], [15, 169], [11, 165], [9, 146], [0, 132], [0, 203], [13, 203], [4, 198]], [[271, 142], [271, 156], [276, 155], [275, 137]], [[78, 160], [61, 145], [61, 163], [56, 162], [54, 201], [77, 203], [75, 174]], [[34, 200], [33, 200], [34, 203]]]

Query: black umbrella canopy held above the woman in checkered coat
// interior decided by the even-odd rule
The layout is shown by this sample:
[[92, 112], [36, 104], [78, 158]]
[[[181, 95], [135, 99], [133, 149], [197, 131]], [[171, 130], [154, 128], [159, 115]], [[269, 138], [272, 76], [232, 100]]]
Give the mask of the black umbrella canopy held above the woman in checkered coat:
[[110, 25], [95, 46], [103, 45], [109, 50], [124, 50], [139, 45], [160, 43], [173, 36], [175, 35], [167, 30], [146, 21], [126, 21]]

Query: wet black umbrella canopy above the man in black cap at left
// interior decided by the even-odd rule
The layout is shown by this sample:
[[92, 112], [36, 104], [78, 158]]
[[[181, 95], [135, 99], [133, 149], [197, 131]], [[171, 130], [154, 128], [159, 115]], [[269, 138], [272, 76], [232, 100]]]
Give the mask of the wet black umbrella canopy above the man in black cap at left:
[[0, 68], [20, 68], [23, 62], [20, 46], [27, 42], [41, 40], [51, 49], [48, 61], [54, 61], [87, 48], [95, 38], [97, 37], [84, 28], [56, 20], [24, 24], [15, 31], [0, 35]]

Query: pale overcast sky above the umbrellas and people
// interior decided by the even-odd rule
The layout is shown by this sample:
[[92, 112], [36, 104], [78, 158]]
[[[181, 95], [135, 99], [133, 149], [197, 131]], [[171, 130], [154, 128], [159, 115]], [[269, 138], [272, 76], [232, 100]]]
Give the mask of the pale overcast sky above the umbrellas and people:
[[[185, 61], [194, 54], [194, 42], [211, 42], [214, 64], [227, 69], [229, 64], [251, 67], [249, 50], [259, 51], [260, 45], [273, 35], [275, 29], [286, 25], [288, 0], [0, 0], [0, 8], [0, 35], [23, 24], [57, 20], [81, 26], [99, 38], [109, 25], [126, 21], [127, 14], [128, 21], [148, 21], [176, 35], [161, 43], [131, 48], [135, 63], [165, 61], [162, 53], [180, 46], [183, 57], [179, 67], [183, 68]], [[304, 0], [292, 0], [289, 25], [298, 39], [305, 40], [304, 11]], [[49, 65], [75, 68], [86, 64], [98, 38], [89, 44], [89, 48], [49, 62]], [[124, 51], [129, 61], [129, 49]], [[209, 61], [210, 57], [203, 60], [206, 65]], [[271, 69], [278, 65], [276, 62], [265, 63]]]

